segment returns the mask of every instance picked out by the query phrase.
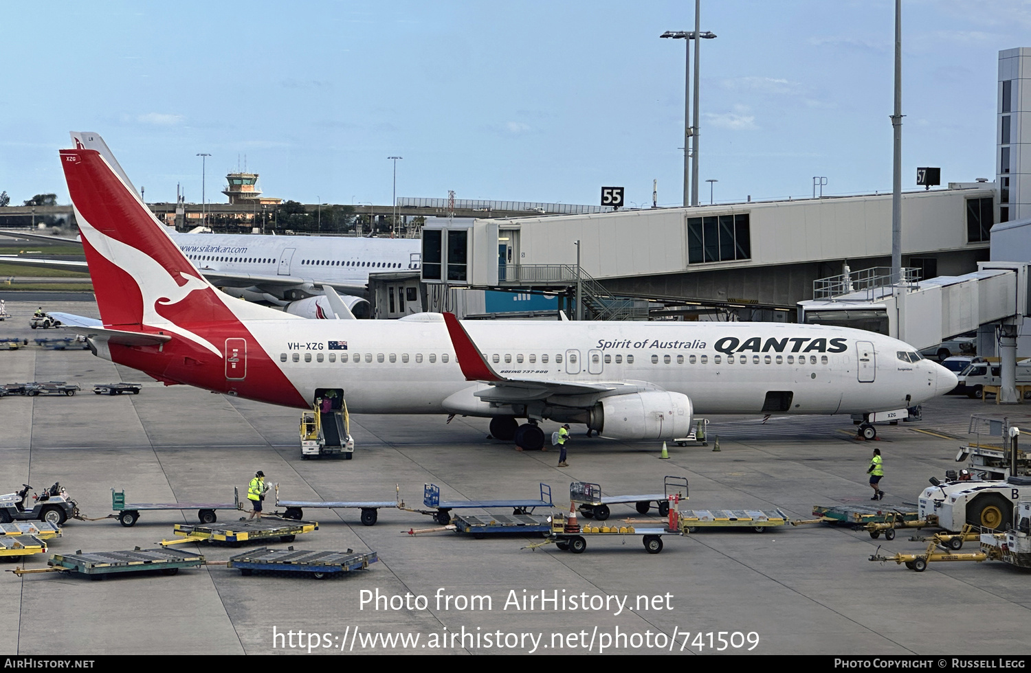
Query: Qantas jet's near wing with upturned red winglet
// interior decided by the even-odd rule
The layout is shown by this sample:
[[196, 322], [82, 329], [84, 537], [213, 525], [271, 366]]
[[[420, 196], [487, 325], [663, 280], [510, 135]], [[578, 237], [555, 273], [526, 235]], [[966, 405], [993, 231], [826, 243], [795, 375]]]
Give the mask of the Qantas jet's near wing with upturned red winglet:
[[465, 374], [465, 379], [467, 381], [483, 381], [491, 385], [490, 389], [474, 393], [485, 402], [527, 402], [546, 399], [555, 395], [598, 396], [611, 391], [636, 393], [655, 389], [654, 385], [640, 381], [590, 383], [502, 376], [487, 362], [455, 314], [444, 313], [443, 316], [452, 344], [455, 346], [455, 356], [458, 358], [462, 373]]

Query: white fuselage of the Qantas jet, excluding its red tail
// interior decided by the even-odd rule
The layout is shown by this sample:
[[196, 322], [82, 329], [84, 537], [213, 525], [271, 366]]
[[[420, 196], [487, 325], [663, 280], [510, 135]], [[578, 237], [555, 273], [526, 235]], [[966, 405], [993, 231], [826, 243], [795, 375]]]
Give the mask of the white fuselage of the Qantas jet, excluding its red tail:
[[[355, 412], [492, 415], [489, 405], [477, 406], [471, 396], [487, 384], [465, 379], [438, 314], [389, 323], [245, 325], [306, 400], [315, 389], [341, 388]], [[771, 391], [792, 393], [783, 412], [898, 409], [941, 395], [956, 380], [928, 360], [899, 360], [898, 352], [914, 349], [897, 339], [846, 328], [537, 321], [463, 326], [502, 377], [634, 381], [683, 393], [698, 413], [761, 413]], [[864, 362], [858, 350], [867, 356]]]

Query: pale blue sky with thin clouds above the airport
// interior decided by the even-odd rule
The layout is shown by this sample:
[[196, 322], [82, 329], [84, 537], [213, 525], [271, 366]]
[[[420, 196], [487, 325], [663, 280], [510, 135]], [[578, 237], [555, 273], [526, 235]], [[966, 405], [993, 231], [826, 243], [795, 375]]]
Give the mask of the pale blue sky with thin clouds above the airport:
[[[267, 196], [680, 205], [694, 3], [4, 3], [0, 191], [68, 203], [58, 149], [95, 131], [147, 201]], [[894, 2], [703, 0], [700, 199], [890, 191]], [[1000, 49], [1031, 0], [904, 0], [903, 189], [994, 179]], [[692, 54], [693, 58], [693, 54]]]

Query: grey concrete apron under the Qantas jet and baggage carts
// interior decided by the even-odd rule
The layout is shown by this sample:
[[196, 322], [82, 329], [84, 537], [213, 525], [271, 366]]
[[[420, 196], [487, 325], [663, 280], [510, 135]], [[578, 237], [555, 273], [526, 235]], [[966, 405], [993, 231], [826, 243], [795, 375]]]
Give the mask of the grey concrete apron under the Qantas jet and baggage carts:
[[[31, 343], [37, 336], [65, 335], [29, 329], [28, 318], [42, 301], [38, 297], [0, 293], [13, 314], [0, 323], [0, 337]], [[97, 316], [94, 303], [66, 296], [55, 296], [43, 307]], [[878, 426], [876, 442], [856, 440], [847, 417], [712, 418], [708, 446], [670, 444], [668, 460], [660, 459], [659, 442], [589, 439], [574, 428], [569, 467], [560, 469], [554, 449], [520, 452], [510, 443], [486, 439], [486, 419], [456, 417], [447, 424], [444, 416], [356, 415], [354, 460], [305, 461], [296, 409], [164, 386], [89, 350], [35, 345], [0, 350], [0, 383], [32, 380], [66, 380], [84, 391], [74, 397], [0, 399], [0, 493], [23, 482], [40, 492], [61, 481], [90, 517], [110, 513], [112, 487], [125, 489], [130, 501], [226, 501], [234, 486], [244, 497], [250, 478], [263, 470], [285, 499], [393, 500], [399, 487], [414, 507], [422, 505], [427, 482], [438, 484], [441, 498], [451, 500], [535, 498], [542, 481], [563, 511], [570, 480], [598, 482], [606, 494], [654, 493], [662, 491], [665, 475], [683, 475], [690, 481], [685, 508], [779, 508], [801, 519], [811, 518], [813, 505], [873, 504], [866, 467], [874, 446], [884, 453], [886, 471], [887, 495], [877, 504], [912, 509], [929, 477], [961, 467], [954, 459], [966, 441], [970, 414], [1005, 414], [1031, 427], [1031, 405], [997, 407], [949, 396], [925, 405], [922, 422]], [[117, 397], [89, 392], [94, 383], [112, 381], [144, 388], [139, 395]], [[545, 424], [545, 431], [553, 426]], [[719, 452], [712, 450], [714, 435]], [[272, 505], [267, 500], [266, 511]], [[239, 515], [219, 512], [220, 521]], [[555, 545], [524, 548], [540, 539], [518, 535], [413, 537], [405, 532], [436, 526], [414, 512], [381, 509], [373, 527], [358, 517], [354, 509], [306, 510], [305, 519], [318, 520], [319, 530], [290, 543], [297, 549], [378, 553], [368, 570], [339, 578], [242, 576], [224, 566], [102, 582], [58, 573], [22, 578], [3, 573], [0, 651], [598, 653], [607, 642], [603, 651], [610, 653], [697, 654], [717, 652], [721, 632], [728, 643], [722, 653], [1028, 650], [1028, 575], [996, 562], [932, 563], [914, 573], [867, 560], [880, 545], [891, 551], [922, 549], [924, 543], [907, 540], [909, 531], [886, 543], [865, 531], [826, 525], [764, 534], [703, 530], [665, 537], [659, 554], [645, 553], [636, 537], [590, 538], [586, 552], [573, 554]], [[641, 518], [631, 506], [612, 506], [609, 523], [626, 517]], [[648, 517], [659, 520], [654, 509]], [[173, 537], [174, 524], [193, 523], [192, 510], [144, 511], [133, 528], [114, 519], [69, 521], [51, 551], [153, 548]], [[210, 543], [180, 546], [209, 561], [240, 551]], [[27, 562], [29, 568], [45, 565], [44, 554]], [[362, 592], [371, 593], [373, 601], [363, 605], [370, 595]], [[388, 597], [378, 609], [376, 592]], [[558, 597], [558, 609], [551, 603], [542, 609], [542, 592]], [[420, 596], [425, 607], [414, 598]], [[454, 598], [445, 602], [447, 596]], [[490, 597], [490, 609], [484, 599], [470, 606], [471, 596]], [[538, 597], [533, 609], [522, 609], [524, 596]], [[592, 609], [594, 596], [600, 597], [595, 605], [606, 605]], [[613, 596], [626, 600], [620, 612], [612, 599], [604, 600]], [[390, 597], [400, 597], [394, 607], [404, 605], [393, 609]], [[571, 609], [570, 597], [576, 607], [586, 598], [589, 609]]]

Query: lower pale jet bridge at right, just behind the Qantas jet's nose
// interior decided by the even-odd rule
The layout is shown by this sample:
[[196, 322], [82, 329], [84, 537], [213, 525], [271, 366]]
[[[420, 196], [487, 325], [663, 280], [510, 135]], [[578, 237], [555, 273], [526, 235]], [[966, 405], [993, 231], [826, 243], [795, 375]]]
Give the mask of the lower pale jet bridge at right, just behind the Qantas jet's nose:
[[1002, 364], [1000, 402], [1018, 402], [1017, 332], [1031, 315], [1028, 267], [1023, 262], [979, 262], [960, 276], [920, 280], [903, 269], [892, 283], [891, 269], [849, 271], [813, 281], [812, 300], [798, 302], [798, 321], [839, 325], [895, 337], [918, 350], [966, 332], [994, 327]]

